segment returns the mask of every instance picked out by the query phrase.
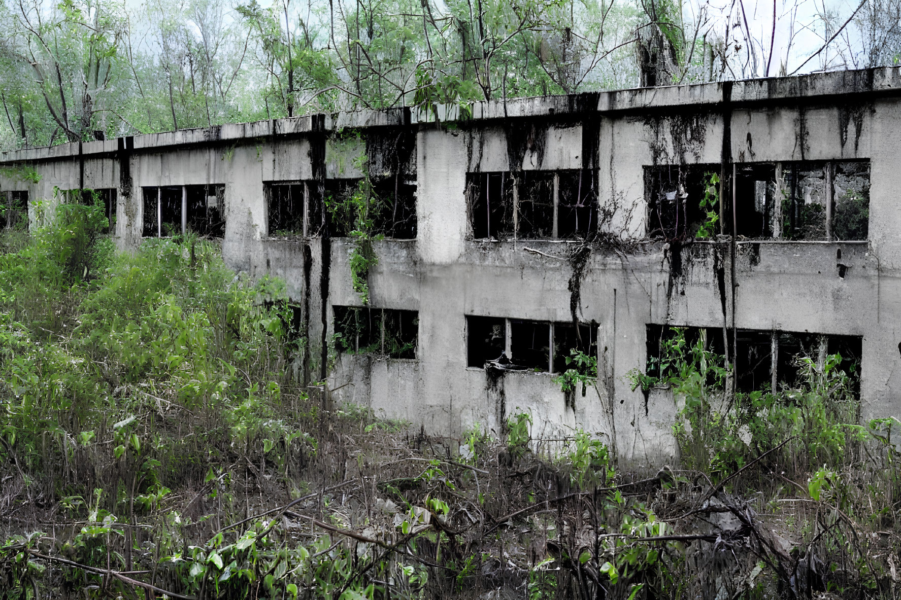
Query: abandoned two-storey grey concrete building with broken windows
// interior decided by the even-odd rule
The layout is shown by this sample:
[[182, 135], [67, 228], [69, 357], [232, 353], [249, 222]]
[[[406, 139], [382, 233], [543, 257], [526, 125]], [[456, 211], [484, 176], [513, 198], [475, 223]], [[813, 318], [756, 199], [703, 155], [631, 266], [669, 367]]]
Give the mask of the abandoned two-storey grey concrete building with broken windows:
[[[297, 377], [426, 432], [530, 411], [535, 437], [668, 457], [672, 392], [627, 377], [667, 325], [731, 357], [738, 391], [839, 352], [861, 420], [901, 406], [898, 68], [317, 114], [0, 167], [32, 226], [91, 190], [122, 250], [196, 232], [282, 277]], [[596, 355], [596, 389], [554, 383], [571, 348]]]

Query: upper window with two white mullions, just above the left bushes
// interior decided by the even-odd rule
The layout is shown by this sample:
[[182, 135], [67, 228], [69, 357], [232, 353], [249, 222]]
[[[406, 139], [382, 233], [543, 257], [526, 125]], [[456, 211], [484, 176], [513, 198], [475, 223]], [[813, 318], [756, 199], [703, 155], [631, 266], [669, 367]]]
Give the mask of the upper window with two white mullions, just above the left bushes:
[[168, 238], [196, 232], [205, 237], [225, 234], [225, 186], [144, 187], [145, 238]]

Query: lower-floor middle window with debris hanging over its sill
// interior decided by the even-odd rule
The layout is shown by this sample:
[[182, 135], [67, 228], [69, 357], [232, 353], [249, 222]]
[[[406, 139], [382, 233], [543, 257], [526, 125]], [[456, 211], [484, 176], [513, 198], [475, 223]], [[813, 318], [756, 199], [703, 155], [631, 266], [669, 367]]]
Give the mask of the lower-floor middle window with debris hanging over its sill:
[[513, 368], [561, 373], [571, 350], [597, 356], [596, 323], [527, 321], [469, 315], [466, 317], [467, 366], [482, 368], [499, 361]]

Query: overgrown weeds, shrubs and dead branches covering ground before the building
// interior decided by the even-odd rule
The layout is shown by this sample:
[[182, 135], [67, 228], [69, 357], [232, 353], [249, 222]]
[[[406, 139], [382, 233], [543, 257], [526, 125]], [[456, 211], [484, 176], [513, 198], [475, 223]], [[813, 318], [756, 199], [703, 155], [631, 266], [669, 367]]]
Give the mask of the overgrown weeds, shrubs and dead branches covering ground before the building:
[[[647, 473], [518, 409], [430, 438], [291, 376], [278, 280], [192, 236], [117, 255], [98, 213], [3, 238], [3, 597], [894, 593], [897, 422], [857, 423], [838, 356], [731, 395], [722, 357], [669, 336], [631, 377], [680, 403], [681, 464]], [[596, 357], [568, 367], [564, 391], [597, 390]]]

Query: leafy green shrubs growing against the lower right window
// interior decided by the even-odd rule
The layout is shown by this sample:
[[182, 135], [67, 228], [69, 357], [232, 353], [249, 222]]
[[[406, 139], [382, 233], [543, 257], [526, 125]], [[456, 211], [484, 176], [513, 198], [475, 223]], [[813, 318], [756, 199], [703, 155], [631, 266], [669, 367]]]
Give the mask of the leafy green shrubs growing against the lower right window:
[[654, 375], [633, 369], [629, 377], [633, 389], [669, 386], [684, 401], [673, 426], [682, 461], [722, 479], [786, 440], [790, 443], [773, 459], [791, 457], [805, 469], [824, 459], [839, 462], [848, 443], [863, 436], [855, 423], [859, 401], [841, 364], [837, 354], [822, 365], [796, 357], [797, 386], [736, 394], [730, 403], [731, 369], [722, 366], [724, 358], [705, 350], [702, 339], [689, 344], [684, 329], [670, 328], [660, 358], [648, 361]]

